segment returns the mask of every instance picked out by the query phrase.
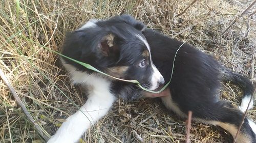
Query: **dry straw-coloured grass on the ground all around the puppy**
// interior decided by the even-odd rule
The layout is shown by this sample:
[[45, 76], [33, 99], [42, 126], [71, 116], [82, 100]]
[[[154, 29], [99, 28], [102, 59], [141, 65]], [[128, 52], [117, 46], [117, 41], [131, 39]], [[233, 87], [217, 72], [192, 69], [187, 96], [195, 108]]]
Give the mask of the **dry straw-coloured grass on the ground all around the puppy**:
[[[0, 67], [28, 111], [49, 134], [62, 119], [86, 101], [79, 87], [70, 84], [58, 56], [44, 47], [59, 50], [67, 31], [91, 18], [130, 13], [164, 34], [205, 51], [230, 69], [255, 82], [252, 67], [256, 45], [256, 16], [239, 19], [222, 36], [228, 24], [252, 2], [245, 0], [197, 1], [1, 1]], [[255, 10], [248, 11], [249, 15]], [[248, 33], [249, 31], [249, 33]], [[254, 56], [255, 53], [254, 53]], [[255, 63], [255, 62], [254, 62]], [[255, 64], [254, 64], [254, 67]], [[254, 76], [253, 76], [254, 75]], [[0, 142], [44, 142], [16, 105], [0, 80]], [[241, 92], [223, 83], [222, 98], [239, 105]], [[256, 110], [248, 112], [254, 121]], [[228, 142], [222, 129], [193, 123], [192, 142]], [[183, 142], [185, 122], [165, 110], [157, 99], [126, 103], [119, 99], [108, 116], [91, 128], [84, 142]], [[82, 141], [82, 139], [80, 140]]]

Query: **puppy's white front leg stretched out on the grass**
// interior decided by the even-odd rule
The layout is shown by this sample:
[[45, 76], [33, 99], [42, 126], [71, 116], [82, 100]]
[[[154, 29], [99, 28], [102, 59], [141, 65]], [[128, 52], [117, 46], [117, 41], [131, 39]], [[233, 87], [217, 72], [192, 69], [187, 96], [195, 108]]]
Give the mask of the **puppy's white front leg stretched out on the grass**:
[[87, 102], [61, 125], [48, 142], [77, 142], [91, 125], [108, 113], [114, 101], [115, 96], [109, 89], [94, 87], [89, 93]]

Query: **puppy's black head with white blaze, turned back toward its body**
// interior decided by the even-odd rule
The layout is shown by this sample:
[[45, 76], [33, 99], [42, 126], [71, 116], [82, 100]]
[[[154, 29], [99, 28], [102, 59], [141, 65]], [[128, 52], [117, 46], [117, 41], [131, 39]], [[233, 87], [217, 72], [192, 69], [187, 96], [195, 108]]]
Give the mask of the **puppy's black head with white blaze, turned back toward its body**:
[[[90, 20], [67, 35], [62, 54], [112, 76], [136, 79], [143, 87], [155, 90], [164, 79], [152, 62], [150, 46], [141, 33], [144, 27], [129, 15]], [[78, 70], [88, 71], [70, 60], [65, 61]]]

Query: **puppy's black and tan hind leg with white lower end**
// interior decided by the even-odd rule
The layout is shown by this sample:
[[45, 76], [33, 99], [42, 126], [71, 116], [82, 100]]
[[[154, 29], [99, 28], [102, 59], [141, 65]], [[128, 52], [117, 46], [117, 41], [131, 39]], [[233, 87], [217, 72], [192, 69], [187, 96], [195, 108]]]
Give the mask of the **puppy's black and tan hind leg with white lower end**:
[[[234, 138], [242, 122], [243, 114], [241, 110], [234, 108], [231, 104], [219, 101], [211, 107], [210, 112], [208, 115], [205, 115], [206, 118], [204, 120], [208, 124], [222, 127]], [[204, 120], [201, 122], [204, 122]], [[253, 121], [248, 118], [244, 119], [236, 142], [256, 143], [256, 125]]]

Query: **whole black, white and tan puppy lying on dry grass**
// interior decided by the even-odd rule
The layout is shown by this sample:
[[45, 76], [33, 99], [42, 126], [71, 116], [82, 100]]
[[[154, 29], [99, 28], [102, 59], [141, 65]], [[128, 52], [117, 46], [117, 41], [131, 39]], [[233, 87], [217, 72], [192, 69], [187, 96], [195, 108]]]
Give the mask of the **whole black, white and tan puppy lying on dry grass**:
[[[107, 34], [102, 34], [104, 36], [97, 36], [101, 35], [101, 32], [104, 30], [108, 31], [109, 26], [115, 27], [114, 29], [117, 31], [120, 30], [120, 35], [111, 31], [111, 34], [106, 32]], [[99, 31], [97, 29], [91, 31], [93, 28], [99, 28]], [[139, 36], [126, 33], [131, 29], [133, 29], [133, 33], [139, 34]], [[114, 38], [112, 36], [113, 33], [115, 33]], [[122, 34], [124, 34], [124, 38], [120, 38]], [[144, 36], [146, 39], [144, 39]], [[126, 41], [123, 39], [126, 39]], [[131, 41], [131, 39], [134, 39], [134, 41]], [[129, 48], [133, 50], [130, 51], [132, 52], [130, 55], [127, 54], [129, 51], [121, 52], [124, 51], [122, 47], [126, 44], [136, 46], [133, 49]], [[123, 79], [137, 79], [143, 83], [144, 87], [154, 90], [164, 80], [158, 71], [155, 70], [152, 59], [166, 82], [168, 82], [173, 69], [174, 55], [182, 44], [182, 42], [170, 39], [156, 31], [145, 29], [143, 23], [129, 15], [122, 15], [105, 21], [89, 21], [77, 31], [67, 36], [62, 53], [75, 60], [89, 63], [97, 69], [113, 76]], [[139, 49], [137, 45], [139, 47], [144, 46], [144, 49], [146, 47], [146, 51], [148, 52], [143, 48], [141, 48], [142, 50], [135, 50]], [[119, 47], [119, 50], [116, 47]], [[137, 52], [140, 54], [137, 54]], [[123, 54], [126, 56], [123, 56]], [[136, 55], [133, 56], [133, 54]], [[141, 55], [142, 57], [148, 55], [148, 62], [145, 60], [145, 63], [151, 68], [150, 75], [146, 74], [148, 73], [147, 70], [141, 69], [141, 71], [138, 69], [138, 67], [143, 67], [144, 58], [142, 58], [142, 61], [137, 60], [137, 68], [133, 67], [133, 64], [136, 62], [132, 62], [133, 60], [131, 59], [136, 59], [137, 57], [141, 57]], [[124, 66], [119, 63], [123, 61], [120, 60], [123, 57], [127, 57], [124, 59], [129, 61], [128, 63], [130, 65]], [[118, 62], [115, 61], [117, 59]], [[115, 61], [114, 66], [113, 61]], [[191, 110], [193, 111], [193, 120], [220, 126], [230, 132], [234, 137], [242, 121], [242, 111], [248, 105], [253, 92], [252, 84], [248, 79], [231, 72], [210, 56], [187, 44], [182, 45], [177, 52], [172, 82], [160, 94], [144, 92], [132, 83], [109, 79], [66, 59], [62, 59], [62, 63], [70, 72], [73, 83], [88, 85], [89, 99], [75, 115], [69, 117], [67, 122], [62, 124], [49, 142], [75, 142], [90, 125], [94, 124], [107, 113], [116, 96], [120, 96], [126, 100], [135, 100], [143, 96], [162, 96], [161, 99], [164, 105], [168, 109], [176, 112], [179, 116], [186, 118], [188, 110]], [[149, 82], [145, 82], [145, 77], [141, 77], [144, 74], [146, 77], [150, 77]], [[156, 79], [158, 79], [157, 83], [153, 83]], [[238, 84], [244, 91], [244, 97], [240, 107], [242, 111], [234, 108], [228, 102], [219, 99], [218, 91], [221, 87], [220, 81], [225, 80], [231, 80], [233, 83]], [[253, 107], [252, 102], [249, 105], [250, 108]], [[238, 135], [237, 142], [255, 142], [255, 129], [255, 124], [246, 118]]]

